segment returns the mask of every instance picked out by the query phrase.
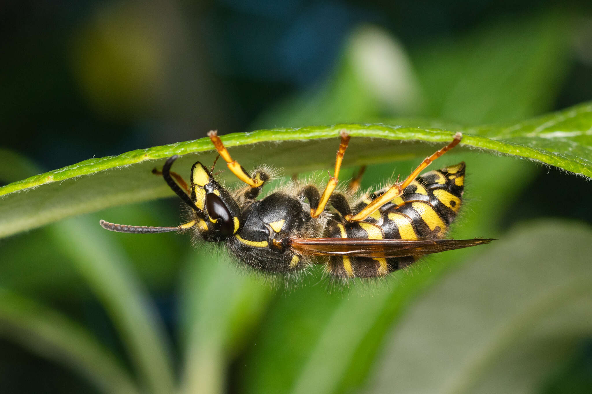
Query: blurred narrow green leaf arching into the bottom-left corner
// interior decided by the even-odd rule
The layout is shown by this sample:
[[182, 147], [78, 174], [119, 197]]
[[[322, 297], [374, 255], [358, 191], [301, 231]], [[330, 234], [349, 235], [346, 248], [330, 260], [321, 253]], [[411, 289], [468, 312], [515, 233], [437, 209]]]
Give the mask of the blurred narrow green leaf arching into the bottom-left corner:
[[119, 360], [85, 328], [56, 311], [0, 289], [0, 336], [66, 364], [105, 393], [139, 394]]

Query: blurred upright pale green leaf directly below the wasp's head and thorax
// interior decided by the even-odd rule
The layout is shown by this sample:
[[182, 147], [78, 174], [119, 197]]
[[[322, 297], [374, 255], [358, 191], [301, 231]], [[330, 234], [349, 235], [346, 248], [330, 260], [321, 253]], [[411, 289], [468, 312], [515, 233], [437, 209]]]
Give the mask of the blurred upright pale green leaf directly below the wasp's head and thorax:
[[214, 252], [211, 245], [200, 249], [183, 275], [180, 392], [215, 394], [227, 391], [226, 365], [243, 347], [272, 293], [254, 275], [237, 272], [226, 253]]

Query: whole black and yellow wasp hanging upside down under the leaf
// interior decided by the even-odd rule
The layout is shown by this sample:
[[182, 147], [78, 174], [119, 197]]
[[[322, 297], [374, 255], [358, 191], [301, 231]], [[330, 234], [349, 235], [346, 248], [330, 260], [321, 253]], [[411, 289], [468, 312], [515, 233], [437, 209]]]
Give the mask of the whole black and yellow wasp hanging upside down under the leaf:
[[[467, 248], [492, 239], [445, 239], [461, 208], [465, 163], [420, 173], [432, 161], [461, 142], [451, 143], [427, 157], [403, 181], [366, 193], [358, 201], [336, 191], [337, 177], [349, 144], [341, 142], [333, 176], [320, 192], [314, 184], [291, 181], [289, 187], [257, 199], [271, 174], [265, 167], [249, 174], [231, 158], [217, 132], [208, 133], [219, 157], [245, 185], [227, 190], [201, 162], [191, 168], [189, 184], [170, 171], [178, 155], [170, 157], [162, 177], [190, 208], [191, 220], [176, 227], [126, 226], [101, 220], [104, 229], [123, 233], [165, 233], [192, 230], [198, 239], [222, 243], [246, 265], [272, 273], [301, 271], [312, 263], [326, 264], [335, 279], [373, 278], [405, 268], [420, 256]], [[212, 168], [213, 171], [213, 168]], [[350, 189], [359, 186], [360, 172]], [[322, 258], [320, 256], [325, 256]]]

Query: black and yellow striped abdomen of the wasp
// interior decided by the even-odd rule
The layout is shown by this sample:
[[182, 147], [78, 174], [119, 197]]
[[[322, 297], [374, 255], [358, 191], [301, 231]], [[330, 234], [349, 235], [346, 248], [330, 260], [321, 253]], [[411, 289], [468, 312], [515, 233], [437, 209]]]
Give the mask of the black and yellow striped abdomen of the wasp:
[[[464, 190], [465, 163], [426, 172], [413, 181], [401, 196], [375, 211], [363, 222], [330, 224], [329, 236], [363, 239], [437, 239], [446, 235], [458, 213]], [[384, 190], [377, 191], [354, 208], [363, 209]], [[329, 271], [340, 278], [371, 278], [413, 263], [403, 258], [331, 257]]]

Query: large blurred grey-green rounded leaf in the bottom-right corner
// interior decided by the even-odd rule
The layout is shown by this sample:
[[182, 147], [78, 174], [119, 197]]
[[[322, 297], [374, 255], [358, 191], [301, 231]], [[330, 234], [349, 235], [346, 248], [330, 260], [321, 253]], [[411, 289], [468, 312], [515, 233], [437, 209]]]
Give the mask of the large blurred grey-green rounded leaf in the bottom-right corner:
[[592, 230], [514, 229], [392, 331], [368, 392], [535, 392], [592, 333]]

